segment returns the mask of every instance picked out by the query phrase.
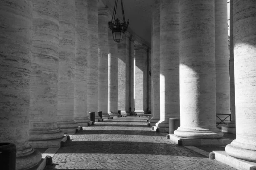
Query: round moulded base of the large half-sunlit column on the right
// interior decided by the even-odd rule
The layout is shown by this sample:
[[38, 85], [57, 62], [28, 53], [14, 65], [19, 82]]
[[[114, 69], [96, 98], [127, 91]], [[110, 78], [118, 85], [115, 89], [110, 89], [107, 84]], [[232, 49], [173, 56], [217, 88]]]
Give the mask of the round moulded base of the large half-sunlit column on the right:
[[180, 138], [190, 138], [190, 139], [220, 139], [223, 137], [223, 132], [218, 128], [215, 129], [190, 129], [184, 127], [178, 127], [174, 131], [174, 134]]

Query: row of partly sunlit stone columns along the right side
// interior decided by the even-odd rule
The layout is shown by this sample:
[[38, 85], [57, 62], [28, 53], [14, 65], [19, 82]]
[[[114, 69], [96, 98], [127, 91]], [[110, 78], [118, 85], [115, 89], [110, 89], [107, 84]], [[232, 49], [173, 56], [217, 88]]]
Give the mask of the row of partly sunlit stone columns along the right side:
[[180, 117], [176, 136], [218, 139], [223, 133], [216, 128], [216, 113], [230, 113], [231, 102], [232, 121], [228, 127], [236, 127], [236, 140], [227, 145], [226, 152], [256, 162], [256, 24], [253, 22], [256, 2], [230, 0], [230, 71], [227, 2], [156, 0], [155, 3], [152, 47], [153, 60], [155, 65], [159, 63], [160, 70], [157, 66], [152, 70], [152, 122], [159, 119], [156, 125], [160, 131], [166, 131], [168, 118]]

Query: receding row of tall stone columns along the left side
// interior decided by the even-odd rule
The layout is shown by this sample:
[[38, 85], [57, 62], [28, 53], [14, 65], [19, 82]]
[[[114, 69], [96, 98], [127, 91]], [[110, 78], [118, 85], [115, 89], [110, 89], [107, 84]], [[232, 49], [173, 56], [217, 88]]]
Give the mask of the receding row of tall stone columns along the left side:
[[113, 41], [98, 0], [1, 0], [0, 11], [0, 142], [16, 145], [17, 170], [90, 125], [89, 112], [130, 112], [134, 38]]

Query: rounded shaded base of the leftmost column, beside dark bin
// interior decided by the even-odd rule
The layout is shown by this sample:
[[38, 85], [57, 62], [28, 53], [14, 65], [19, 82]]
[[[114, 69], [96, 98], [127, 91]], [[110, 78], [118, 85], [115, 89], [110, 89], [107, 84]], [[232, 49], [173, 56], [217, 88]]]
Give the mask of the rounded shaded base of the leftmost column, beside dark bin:
[[16, 157], [16, 170], [34, 170], [35, 167], [40, 163], [42, 159], [41, 153], [33, 148], [30, 152], [32, 153], [29, 155]]

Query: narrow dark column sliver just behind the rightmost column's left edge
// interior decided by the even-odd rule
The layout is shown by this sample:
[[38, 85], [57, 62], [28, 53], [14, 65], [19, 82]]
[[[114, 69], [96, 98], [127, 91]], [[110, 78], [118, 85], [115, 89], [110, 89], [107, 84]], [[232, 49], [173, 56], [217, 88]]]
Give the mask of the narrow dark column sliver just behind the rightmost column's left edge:
[[230, 0], [230, 108], [231, 122], [227, 127], [236, 128], [235, 78], [234, 78], [234, 40], [233, 40], [233, 0]]

